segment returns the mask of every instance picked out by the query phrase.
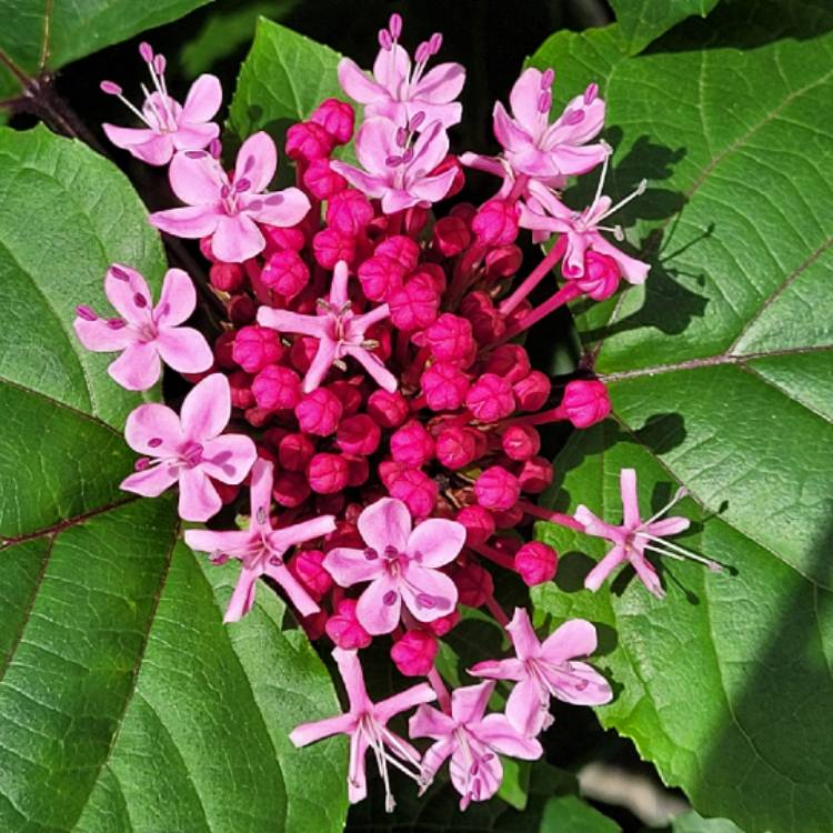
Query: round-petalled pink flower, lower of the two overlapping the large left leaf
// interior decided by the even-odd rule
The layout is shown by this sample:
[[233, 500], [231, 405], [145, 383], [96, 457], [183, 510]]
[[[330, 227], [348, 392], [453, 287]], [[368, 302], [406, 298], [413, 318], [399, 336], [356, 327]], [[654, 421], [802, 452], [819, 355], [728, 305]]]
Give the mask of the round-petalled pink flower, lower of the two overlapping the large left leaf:
[[197, 384], [179, 416], [165, 405], [139, 405], [128, 416], [124, 438], [131, 449], [148, 456], [121, 488], [155, 498], [179, 481], [180, 518], [207, 521], [222, 505], [211, 479], [241, 483], [257, 459], [250, 438], [220, 435], [230, 416], [231, 388], [222, 373]]

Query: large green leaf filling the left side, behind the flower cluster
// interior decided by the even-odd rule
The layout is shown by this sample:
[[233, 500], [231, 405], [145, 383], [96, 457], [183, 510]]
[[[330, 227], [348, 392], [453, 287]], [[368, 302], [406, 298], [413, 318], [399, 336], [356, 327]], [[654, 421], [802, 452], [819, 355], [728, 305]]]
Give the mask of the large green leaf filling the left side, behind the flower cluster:
[[155, 232], [78, 143], [4, 130], [0, 159], [0, 830], [340, 830], [343, 744], [287, 737], [338, 710], [305, 636], [265, 588], [225, 628], [235, 566], [175, 543], [170, 498], [118, 488], [141, 400], [73, 307], [104, 303], [113, 259], [158, 284]]

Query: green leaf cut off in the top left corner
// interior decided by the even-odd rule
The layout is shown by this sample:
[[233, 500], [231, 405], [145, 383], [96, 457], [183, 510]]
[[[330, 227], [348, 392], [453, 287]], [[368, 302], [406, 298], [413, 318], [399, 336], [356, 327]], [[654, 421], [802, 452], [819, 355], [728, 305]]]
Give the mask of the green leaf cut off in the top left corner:
[[[42, 69], [60, 69], [145, 29], [177, 20], [209, 1], [0, 0], [0, 50], [24, 74], [37, 77]], [[19, 92], [19, 81], [0, 64], [0, 98]]]

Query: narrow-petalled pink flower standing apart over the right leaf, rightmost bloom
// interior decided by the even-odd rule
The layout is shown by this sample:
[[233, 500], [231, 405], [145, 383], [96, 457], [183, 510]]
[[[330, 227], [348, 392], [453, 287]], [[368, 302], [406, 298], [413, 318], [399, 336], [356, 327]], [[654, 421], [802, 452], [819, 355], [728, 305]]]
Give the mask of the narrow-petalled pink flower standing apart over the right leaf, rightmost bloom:
[[622, 489], [622, 508], [624, 509], [624, 519], [620, 526], [605, 523], [584, 505], [580, 505], [575, 510], [575, 520], [584, 525], [584, 532], [588, 535], [606, 538], [613, 544], [613, 549], [588, 573], [588, 578], [584, 579], [584, 586], [588, 590], [599, 590], [602, 582], [613, 570], [625, 561], [629, 561], [648, 590], [658, 599], [662, 599], [665, 592], [662, 589], [662, 584], [660, 584], [656, 571], [645, 555], [646, 550], [660, 553], [661, 555], [668, 555], [672, 559], [699, 561], [714, 572], [722, 570], [721, 565], [715, 561], [704, 559], [693, 552], [689, 552], [679, 544], [672, 544], [670, 541], [664, 540], [669, 535], [675, 535], [689, 529], [690, 521], [688, 518], [674, 516], [666, 518], [663, 521], [658, 520], [688, 494], [685, 489], [679, 489], [668, 505], [663, 506], [646, 521], [642, 521], [640, 519], [639, 500], [636, 498], [636, 472], [633, 469], [622, 469], [620, 483]]

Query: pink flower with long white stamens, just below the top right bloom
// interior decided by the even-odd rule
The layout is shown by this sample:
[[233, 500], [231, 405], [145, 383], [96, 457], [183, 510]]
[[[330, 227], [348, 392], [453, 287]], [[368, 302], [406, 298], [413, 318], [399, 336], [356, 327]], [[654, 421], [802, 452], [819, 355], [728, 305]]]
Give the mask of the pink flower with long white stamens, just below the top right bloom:
[[616, 249], [601, 232], [608, 231], [616, 240], [624, 240], [624, 232], [620, 225], [602, 225], [602, 222], [622, 205], [644, 193], [648, 182], [642, 180], [631, 194], [612, 205], [610, 197], [603, 197], [601, 193], [606, 170], [608, 160], [604, 162], [593, 202], [581, 212], [564, 205], [548, 188], [538, 182], [530, 182], [532, 199], [520, 203], [520, 224], [534, 232], [533, 240], [536, 242], [545, 240], [552, 233], [566, 235], [566, 250], [561, 270], [569, 280], [581, 280], [584, 277], [585, 254], [590, 250], [611, 258], [629, 283], [644, 283], [651, 267]]

